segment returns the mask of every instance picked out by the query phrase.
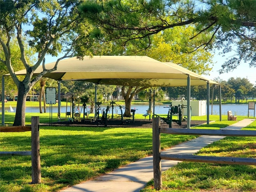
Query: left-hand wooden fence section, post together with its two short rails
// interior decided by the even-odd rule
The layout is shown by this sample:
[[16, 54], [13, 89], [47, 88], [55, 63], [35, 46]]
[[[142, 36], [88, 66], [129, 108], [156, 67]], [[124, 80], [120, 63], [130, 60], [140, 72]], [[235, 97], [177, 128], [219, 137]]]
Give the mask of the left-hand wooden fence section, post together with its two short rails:
[[0, 132], [24, 132], [24, 131], [31, 131], [31, 151], [5, 151], [5, 152], [0, 152], [0, 156], [31, 155], [32, 184], [41, 183], [39, 116], [31, 117], [31, 126], [0, 127]]

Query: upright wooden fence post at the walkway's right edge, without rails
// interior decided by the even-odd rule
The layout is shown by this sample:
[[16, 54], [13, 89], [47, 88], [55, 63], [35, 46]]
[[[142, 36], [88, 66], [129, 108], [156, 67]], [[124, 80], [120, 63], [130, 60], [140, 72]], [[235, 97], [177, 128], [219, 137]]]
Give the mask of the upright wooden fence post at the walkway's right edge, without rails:
[[153, 118], [153, 172], [154, 172], [154, 188], [162, 189], [162, 168], [160, 159], [160, 118]]

